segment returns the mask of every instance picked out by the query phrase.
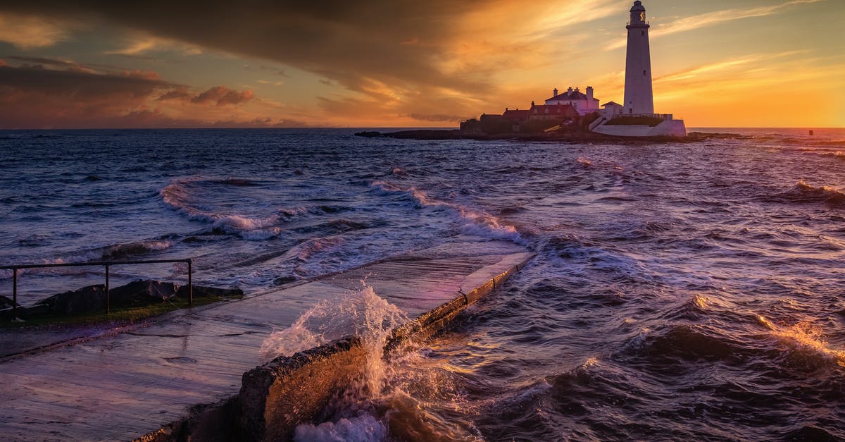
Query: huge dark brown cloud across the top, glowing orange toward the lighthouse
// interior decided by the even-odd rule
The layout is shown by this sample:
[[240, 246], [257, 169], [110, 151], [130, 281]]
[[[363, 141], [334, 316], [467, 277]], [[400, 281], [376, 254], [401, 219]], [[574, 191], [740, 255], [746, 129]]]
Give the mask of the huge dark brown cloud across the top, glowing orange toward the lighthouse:
[[[261, 8], [233, 11], [195, 2], [33, 0], [14, 8], [94, 14], [157, 39], [292, 65], [350, 91], [360, 91], [374, 79], [391, 86], [482, 94], [490, 91], [491, 71], [554, 53], [557, 45], [542, 36], [560, 26], [618, 13], [611, 8], [614, 3], [586, 0], [561, 8], [557, 0], [325, 0], [262, 2]], [[485, 41], [478, 41], [480, 32], [488, 36]], [[139, 41], [123, 53], [150, 47], [155, 43]]]

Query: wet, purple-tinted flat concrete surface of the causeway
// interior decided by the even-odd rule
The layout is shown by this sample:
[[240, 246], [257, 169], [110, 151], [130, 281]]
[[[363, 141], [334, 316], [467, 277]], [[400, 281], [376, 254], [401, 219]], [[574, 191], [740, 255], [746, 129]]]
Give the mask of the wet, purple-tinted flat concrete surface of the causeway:
[[[0, 359], [0, 439], [135, 439], [188, 407], [237, 395], [259, 347], [323, 299], [361, 280], [410, 318], [487, 284], [531, 253], [505, 241], [456, 237], [342, 273], [193, 311], [117, 334]], [[7, 340], [0, 332], [0, 344]], [[3, 344], [5, 345], [5, 344]]]

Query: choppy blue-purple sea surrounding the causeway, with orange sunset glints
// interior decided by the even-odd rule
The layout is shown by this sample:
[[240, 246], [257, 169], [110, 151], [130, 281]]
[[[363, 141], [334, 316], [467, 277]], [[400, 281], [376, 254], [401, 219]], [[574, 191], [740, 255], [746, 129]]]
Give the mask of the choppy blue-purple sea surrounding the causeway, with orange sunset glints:
[[[697, 130], [733, 135], [0, 131], [0, 266], [192, 257], [249, 295], [510, 241], [536, 256], [297, 439], [845, 440], [845, 130]], [[19, 302], [102, 277], [21, 271]]]

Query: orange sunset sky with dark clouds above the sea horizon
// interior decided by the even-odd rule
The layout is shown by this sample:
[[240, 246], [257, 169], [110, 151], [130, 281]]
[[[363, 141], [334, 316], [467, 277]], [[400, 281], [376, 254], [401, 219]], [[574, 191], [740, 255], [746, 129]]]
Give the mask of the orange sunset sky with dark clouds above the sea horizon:
[[[629, 0], [0, 2], [0, 129], [455, 127], [623, 101]], [[845, 127], [845, 0], [643, 0], [657, 113]]]

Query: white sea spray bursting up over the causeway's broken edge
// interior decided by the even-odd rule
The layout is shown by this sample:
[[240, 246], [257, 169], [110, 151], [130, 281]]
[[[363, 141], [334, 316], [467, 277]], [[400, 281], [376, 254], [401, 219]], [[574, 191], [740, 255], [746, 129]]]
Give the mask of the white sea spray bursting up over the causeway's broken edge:
[[[405, 313], [373, 287], [347, 291], [319, 301], [287, 329], [275, 331], [261, 345], [261, 356], [291, 356], [347, 335], [362, 338], [363, 375], [335, 396], [323, 412], [324, 422], [297, 426], [297, 440], [477, 440], [475, 428], [439, 416], [466, 411], [462, 394], [442, 367], [433, 366], [426, 349], [384, 358], [393, 329], [406, 323]], [[427, 362], [428, 361], [428, 362]]]

